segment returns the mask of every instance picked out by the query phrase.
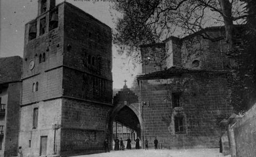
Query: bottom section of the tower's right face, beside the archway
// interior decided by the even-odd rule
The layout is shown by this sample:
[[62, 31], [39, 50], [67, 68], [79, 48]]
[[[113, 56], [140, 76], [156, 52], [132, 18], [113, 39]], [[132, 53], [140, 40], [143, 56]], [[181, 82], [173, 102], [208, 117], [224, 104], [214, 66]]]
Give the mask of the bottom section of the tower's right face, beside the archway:
[[63, 98], [61, 154], [102, 151], [111, 106]]

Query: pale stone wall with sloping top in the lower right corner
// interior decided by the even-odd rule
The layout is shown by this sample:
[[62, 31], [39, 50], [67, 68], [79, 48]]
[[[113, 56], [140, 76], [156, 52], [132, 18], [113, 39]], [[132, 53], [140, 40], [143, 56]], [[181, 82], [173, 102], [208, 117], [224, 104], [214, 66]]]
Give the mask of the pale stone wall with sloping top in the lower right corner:
[[231, 128], [234, 130], [236, 157], [256, 156], [256, 105]]

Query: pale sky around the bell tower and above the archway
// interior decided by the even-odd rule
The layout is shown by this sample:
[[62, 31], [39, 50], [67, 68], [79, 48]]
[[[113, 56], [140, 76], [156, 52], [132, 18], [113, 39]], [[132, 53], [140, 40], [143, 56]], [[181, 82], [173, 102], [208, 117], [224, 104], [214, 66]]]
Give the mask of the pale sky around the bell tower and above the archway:
[[[56, 3], [63, 1], [56, 0]], [[114, 29], [116, 16], [113, 11], [111, 13], [109, 11], [110, 5], [114, 2], [83, 1], [67, 0], [66, 2], [81, 8]], [[0, 5], [0, 57], [15, 55], [23, 57], [25, 23], [36, 18], [37, 0], [0, 0]], [[113, 88], [122, 88], [125, 79], [128, 80], [127, 85], [130, 88], [134, 77], [140, 71], [139, 68], [134, 69], [128, 60], [125, 55], [117, 55], [113, 46]]]

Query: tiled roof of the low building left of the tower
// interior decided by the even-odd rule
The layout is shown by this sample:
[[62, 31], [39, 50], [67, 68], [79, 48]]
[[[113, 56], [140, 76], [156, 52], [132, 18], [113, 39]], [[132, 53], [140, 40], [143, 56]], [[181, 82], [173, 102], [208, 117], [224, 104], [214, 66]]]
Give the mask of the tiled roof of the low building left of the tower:
[[22, 58], [19, 56], [0, 58], [0, 84], [20, 81]]

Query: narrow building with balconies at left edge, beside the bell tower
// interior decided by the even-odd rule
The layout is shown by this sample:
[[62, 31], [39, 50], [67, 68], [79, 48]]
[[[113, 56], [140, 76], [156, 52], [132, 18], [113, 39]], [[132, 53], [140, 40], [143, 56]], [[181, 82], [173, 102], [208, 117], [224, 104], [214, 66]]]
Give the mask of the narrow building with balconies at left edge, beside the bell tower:
[[17, 156], [22, 58], [0, 58], [0, 156]]

